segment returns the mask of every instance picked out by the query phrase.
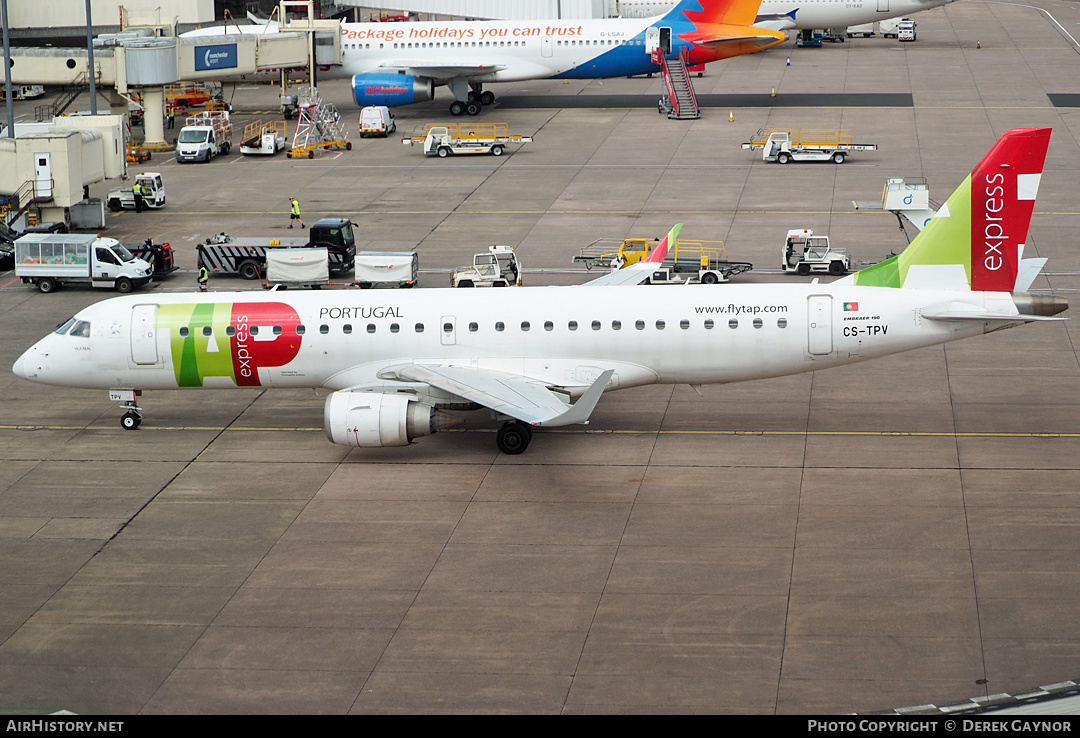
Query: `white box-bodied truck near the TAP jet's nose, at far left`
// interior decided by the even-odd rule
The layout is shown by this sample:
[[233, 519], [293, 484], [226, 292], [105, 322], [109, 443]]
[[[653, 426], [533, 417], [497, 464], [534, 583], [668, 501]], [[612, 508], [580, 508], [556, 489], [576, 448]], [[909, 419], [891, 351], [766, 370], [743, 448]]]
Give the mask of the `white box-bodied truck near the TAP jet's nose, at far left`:
[[126, 294], [149, 282], [153, 267], [116, 239], [27, 233], [15, 240], [15, 276], [46, 293], [62, 284], [90, 284]]

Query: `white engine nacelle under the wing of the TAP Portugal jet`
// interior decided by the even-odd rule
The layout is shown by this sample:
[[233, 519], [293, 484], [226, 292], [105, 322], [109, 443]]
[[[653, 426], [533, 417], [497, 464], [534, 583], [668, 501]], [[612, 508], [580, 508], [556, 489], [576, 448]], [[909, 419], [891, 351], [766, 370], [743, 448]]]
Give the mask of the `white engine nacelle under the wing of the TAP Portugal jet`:
[[461, 419], [419, 402], [410, 394], [341, 390], [326, 398], [326, 438], [343, 446], [380, 448], [407, 446]]

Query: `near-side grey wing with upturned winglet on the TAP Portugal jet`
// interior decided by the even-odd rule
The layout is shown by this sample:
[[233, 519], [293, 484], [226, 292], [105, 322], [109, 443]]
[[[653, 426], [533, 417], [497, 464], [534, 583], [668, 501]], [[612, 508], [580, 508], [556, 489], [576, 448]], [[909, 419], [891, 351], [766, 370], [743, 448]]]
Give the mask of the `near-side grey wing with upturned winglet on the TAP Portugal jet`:
[[615, 374], [615, 370], [602, 373], [578, 402], [570, 405], [544, 385], [507, 372], [438, 364], [407, 364], [395, 372], [403, 379], [424, 383], [532, 426], [589, 422]]

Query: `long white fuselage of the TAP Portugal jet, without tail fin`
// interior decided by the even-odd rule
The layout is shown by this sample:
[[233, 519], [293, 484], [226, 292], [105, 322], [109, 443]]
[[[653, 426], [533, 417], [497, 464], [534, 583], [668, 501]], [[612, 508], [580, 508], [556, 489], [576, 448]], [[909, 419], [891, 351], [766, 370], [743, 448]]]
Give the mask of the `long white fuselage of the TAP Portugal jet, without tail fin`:
[[[46, 336], [14, 371], [104, 389], [348, 389], [386, 387], [381, 371], [423, 362], [575, 395], [608, 368], [609, 389], [741, 381], [983, 333], [980, 321], [921, 318], [960, 304], [1016, 313], [1003, 293], [835, 284], [133, 295], [82, 310], [89, 335]], [[181, 335], [197, 338], [185, 349]]]

